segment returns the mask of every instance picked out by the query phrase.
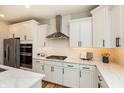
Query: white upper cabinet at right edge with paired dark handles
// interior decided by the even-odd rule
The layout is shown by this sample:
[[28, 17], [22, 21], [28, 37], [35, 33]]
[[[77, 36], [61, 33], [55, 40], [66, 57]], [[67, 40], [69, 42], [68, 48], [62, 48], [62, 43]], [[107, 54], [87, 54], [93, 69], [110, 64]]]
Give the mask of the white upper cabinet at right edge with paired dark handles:
[[111, 7], [112, 47], [124, 47], [124, 6]]

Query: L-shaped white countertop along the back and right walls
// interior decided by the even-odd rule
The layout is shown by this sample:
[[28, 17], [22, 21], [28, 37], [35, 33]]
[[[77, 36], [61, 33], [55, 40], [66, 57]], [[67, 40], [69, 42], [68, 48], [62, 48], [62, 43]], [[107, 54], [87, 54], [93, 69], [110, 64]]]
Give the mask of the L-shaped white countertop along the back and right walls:
[[[34, 58], [50, 61], [52, 59], [45, 58]], [[53, 61], [53, 60], [52, 60]], [[66, 58], [64, 61], [54, 60], [56, 62], [68, 62], [75, 64], [86, 64], [86, 65], [95, 65], [101, 75], [103, 76], [106, 84], [109, 88], [124, 88], [124, 66], [116, 63], [103, 63], [100, 61], [82, 61], [78, 58]]]

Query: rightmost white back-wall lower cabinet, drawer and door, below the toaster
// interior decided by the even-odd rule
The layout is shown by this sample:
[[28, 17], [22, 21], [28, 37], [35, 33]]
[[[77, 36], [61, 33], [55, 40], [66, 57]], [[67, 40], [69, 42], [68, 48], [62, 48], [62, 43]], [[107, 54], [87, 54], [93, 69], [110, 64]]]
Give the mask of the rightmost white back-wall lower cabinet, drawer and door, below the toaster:
[[95, 88], [96, 68], [94, 66], [81, 66], [80, 70], [80, 88]]

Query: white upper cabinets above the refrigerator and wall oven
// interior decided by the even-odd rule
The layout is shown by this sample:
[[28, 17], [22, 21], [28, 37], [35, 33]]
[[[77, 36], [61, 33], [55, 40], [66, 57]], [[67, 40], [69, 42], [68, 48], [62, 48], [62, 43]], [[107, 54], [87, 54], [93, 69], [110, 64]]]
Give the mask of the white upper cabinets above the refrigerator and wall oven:
[[25, 21], [9, 26], [9, 38], [19, 37], [21, 41], [32, 41], [32, 33], [37, 30], [38, 22], [35, 20]]

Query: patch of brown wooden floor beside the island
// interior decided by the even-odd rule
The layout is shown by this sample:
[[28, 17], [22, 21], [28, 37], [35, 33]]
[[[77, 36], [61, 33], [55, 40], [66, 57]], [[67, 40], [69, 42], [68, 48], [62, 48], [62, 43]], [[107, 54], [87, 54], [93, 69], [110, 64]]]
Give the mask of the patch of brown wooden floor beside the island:
[[57, 84], [54, 84], [54, 83], [43, 81], [42, 82], [42, 88], [64, 88], [64, 87], [61, 86], [61, 85], [57, 85]]

